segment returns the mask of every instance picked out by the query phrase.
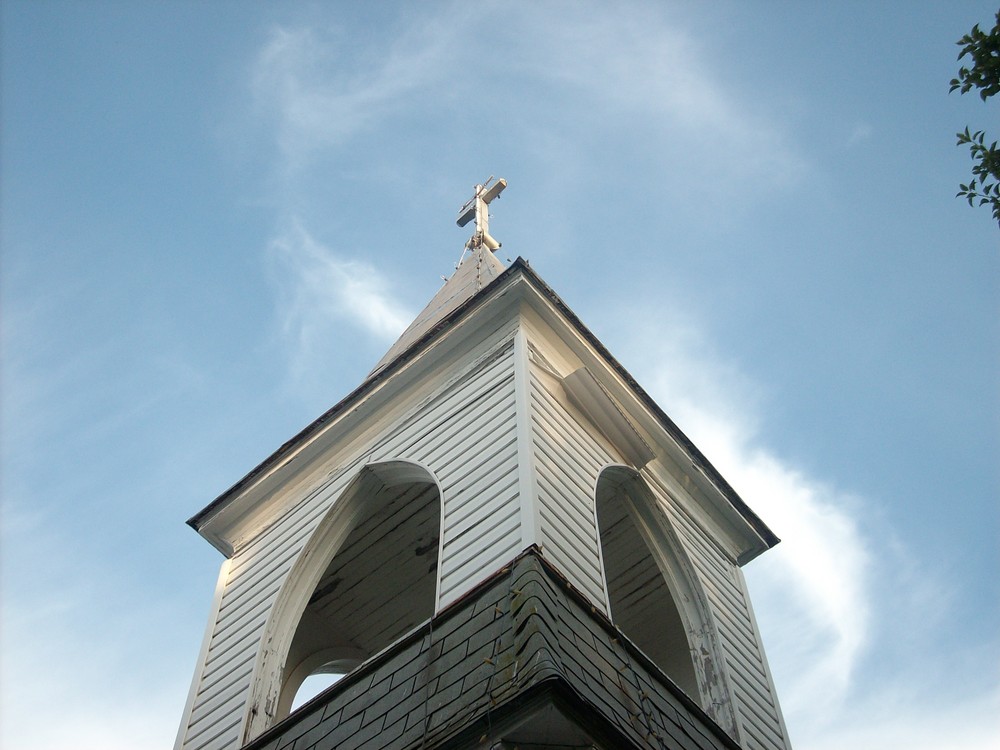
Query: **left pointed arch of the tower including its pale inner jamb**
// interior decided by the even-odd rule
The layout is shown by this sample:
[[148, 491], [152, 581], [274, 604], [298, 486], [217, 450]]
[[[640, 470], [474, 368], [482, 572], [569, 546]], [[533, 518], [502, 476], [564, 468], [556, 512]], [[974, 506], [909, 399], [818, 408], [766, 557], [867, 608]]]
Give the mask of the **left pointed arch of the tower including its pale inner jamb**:
[[299, 552], [261, 639], [248, 742], [288, 715], [313, 674], [346, 673], [434, 615], [441, 489], [426, 467], [364, 466]]

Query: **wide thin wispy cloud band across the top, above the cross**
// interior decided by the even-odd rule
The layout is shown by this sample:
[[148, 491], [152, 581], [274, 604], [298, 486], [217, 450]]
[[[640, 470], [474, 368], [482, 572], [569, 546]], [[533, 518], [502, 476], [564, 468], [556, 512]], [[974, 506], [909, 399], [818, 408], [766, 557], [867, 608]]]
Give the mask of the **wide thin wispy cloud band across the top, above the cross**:
[[[488, 44], [477, 28], [489, 29]], [[448, 3], [381, 31], [365, 46], [334, 24], [271, 30], [251, 88], [285, 173], [427, 111], [440, 128], [424, 122], [411, 138], [458, 132], [470, 112], [492, 123], [489, 138], [502, 138], [503, 123], [562, 139], [627, 124], [651, 138], [646, 156], [665, 166], [694, 153], [701, 170], [727, 179], [780, 182], [805, 171], [781, 119], [735, 90], [711, 50], [658, 4]]]

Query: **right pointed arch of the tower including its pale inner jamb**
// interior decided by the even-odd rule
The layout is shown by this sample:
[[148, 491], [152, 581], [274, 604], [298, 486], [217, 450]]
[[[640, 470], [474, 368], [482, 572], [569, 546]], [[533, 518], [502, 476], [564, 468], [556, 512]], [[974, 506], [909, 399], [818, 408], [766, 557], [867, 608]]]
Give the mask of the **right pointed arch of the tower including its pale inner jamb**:
[[629, 466], [601, 471], [595, 504], [612, 622], [733, 734], [736, 716], [712, 615], [670, 519]]

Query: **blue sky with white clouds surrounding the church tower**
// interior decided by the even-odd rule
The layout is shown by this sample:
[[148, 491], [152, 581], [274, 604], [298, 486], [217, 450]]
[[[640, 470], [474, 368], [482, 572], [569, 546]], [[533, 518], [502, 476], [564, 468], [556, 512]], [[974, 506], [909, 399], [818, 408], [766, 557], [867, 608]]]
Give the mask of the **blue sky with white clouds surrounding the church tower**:
[[3, 5], [0, 744], [173, 742], [184, 520], [361, 381], [490, 174], [501, 258], [783, 538], [795, 747], [995, 741], [1000, 235], [953, 196], [1000, 120], [948, 81], [996, 7], [368, 5]]

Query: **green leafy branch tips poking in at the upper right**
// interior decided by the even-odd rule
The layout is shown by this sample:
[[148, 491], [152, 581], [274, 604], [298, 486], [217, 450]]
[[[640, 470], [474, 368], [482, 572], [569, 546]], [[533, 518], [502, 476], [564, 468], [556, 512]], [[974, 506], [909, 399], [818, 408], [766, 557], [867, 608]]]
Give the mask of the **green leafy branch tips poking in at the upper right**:
[[[958, 59], [968, 56], [971, 59], [969, 67], [959, 68], [958, 78], [951, 79], [949, 93], [959, 89], [965, 94], [972, 89], [979, 91], [979, 98], [984, 102], [1000, 92], [1000, 11], [996, 15], [996, 26], [989, 33], [983, 32], [979, 24], [972, 31], [958, 40], [962, 48]], [[972, 180], [967, 185], [959, 185], [955, 197], [965, 198], [969, 205], [989, 205], [993, 209], [993, 218], [1000, 223], [1000, 150], [997, 142], [987, 145], [986, 133], [977, 130], [974, 133], [966, 128], [957, 133], [959, 146], [968, 145], [971, 152]]]

